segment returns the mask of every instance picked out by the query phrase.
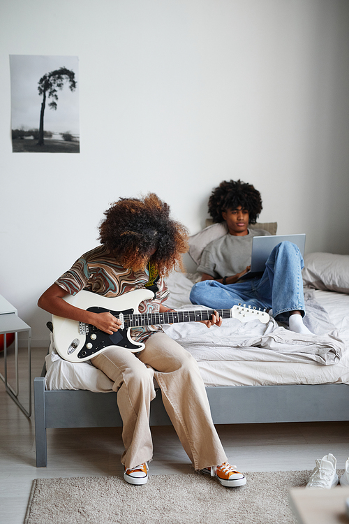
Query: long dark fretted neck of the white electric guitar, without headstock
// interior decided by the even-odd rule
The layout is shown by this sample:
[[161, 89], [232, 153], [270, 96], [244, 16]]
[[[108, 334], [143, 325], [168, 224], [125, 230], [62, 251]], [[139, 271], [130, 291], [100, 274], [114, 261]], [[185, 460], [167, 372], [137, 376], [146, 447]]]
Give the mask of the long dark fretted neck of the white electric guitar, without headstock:
[[[196, 310], [196, 311], [168, 311], [165, 313], [138, 313], [124, 315], [124, 323], [128, 328], [137, 326], [157, 326], [158, 324], [172, 324], [181, 322], [198, 322], [209, 320], [215, 310]], [[216, 310], [222, 319], [231, 319], [231, 310]]]

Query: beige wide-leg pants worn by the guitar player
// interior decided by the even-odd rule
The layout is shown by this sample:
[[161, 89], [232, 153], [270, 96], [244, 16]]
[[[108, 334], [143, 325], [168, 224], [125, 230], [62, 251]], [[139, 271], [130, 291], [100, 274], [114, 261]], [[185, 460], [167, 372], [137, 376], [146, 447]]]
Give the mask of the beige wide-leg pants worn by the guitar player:
[[121, 463], [126, 467], [138, 466], [153, 456], [149, 409], [155, 397], [154, 377], [166, 412], [195, 470], [227, 460], [211, 419], [198, 364], [165, 333], [151, 335], [137, 356], [128, 349], [110, 347], [91, 362], [114, 381], [124, 424]]

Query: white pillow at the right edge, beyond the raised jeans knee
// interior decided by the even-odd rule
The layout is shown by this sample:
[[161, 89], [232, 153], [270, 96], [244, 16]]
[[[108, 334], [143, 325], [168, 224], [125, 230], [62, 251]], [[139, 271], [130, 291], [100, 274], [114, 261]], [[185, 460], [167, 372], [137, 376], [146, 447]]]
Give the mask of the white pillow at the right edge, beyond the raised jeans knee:
[[304, 257], [303, 282], [323, 291], [349, 293], [349, 255], [310, 253]]

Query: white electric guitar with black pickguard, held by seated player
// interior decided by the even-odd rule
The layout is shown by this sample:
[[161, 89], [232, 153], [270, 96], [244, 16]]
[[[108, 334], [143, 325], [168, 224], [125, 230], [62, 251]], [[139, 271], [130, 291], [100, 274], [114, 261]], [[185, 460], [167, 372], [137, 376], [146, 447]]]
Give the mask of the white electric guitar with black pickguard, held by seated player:
[[[142, 300], [152, 298], [154, 293], [149, 289], [136, 289], [115, 298], [107, 298], [91, 291], [80, 291], [75, 296], [66, 295], [64, 297], [66, 302], [82, 310], [94, 313], [110, 312], [121, 320], [121, 327], [112, 335], [108, 335], [91, 324], [52, 315], [54, 345], [57, 353], [69, 362], [88, 361], [110, 346], [124, 347], [132, 353], [138, 353], [144, 349], [144, 344], [135, 342], [131, 338], [131, 328], [209, 320], [214, 313], [214, 310], [138, 313]], [[257, 319], [262, 323], [269, 321], [269, 314], [265, 311], [251, 306], [246, 307], [246, 304], [235, 305], [231, 310], [216, 311], [223, 319], [235, 318], [241, 322]]]

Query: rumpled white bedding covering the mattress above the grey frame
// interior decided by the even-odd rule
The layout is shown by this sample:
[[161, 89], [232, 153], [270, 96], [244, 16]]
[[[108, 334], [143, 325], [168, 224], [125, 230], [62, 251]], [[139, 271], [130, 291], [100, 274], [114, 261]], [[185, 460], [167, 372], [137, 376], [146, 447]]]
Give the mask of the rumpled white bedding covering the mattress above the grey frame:
[[[179, 272], [170, 275], [170, 298], [166, 305], [174, 309], [198, 309], [198, 306], [190, 305], [189, 300], [196, 277]], [[299, 344], [295, 349], [288, 347], [279, 352], [271, 348], [268, 341], [262, 348], [251, 345], [253, 340], [258, 344], [263, 337], [270, 338], [271, 332], [273, 336], [280, 334], [283, 342], [287, 340], [290, 332], [277, 326], [274, 319], [269, 326], [258, 321], [242, 324], [236, 319], [229, 319], [223, 322], [221, 328], [213, 326], [210, 330], [200, 323], [174, 324], [164, 328], [169, 336], [178, 340], [195, 356], [207, 386], [349, 384], [349, 351], [345, 351], [345, 346], [349, 348], [349, 296], [331, 291], [311, 291], [311, 296], [328, 313], [328, 316], [323, 315], [322, 331], [320, 324], [317, 327], [317, 333], [325, 337], [325, 350], [322, 348], [319, 351], [317, 347], [313, 354], [306, 352], [309, 347], [306, 351], [303, 346], [299, 350]], [[337, 332], [333, 331], [334, 326]], [[324, 334], [328, 332], [332, 332], [330, 337]], [[334, 342], [332, 348], [328, 347], [331, 337]], [[292, 337], [292, 346], [295, 345], [294, 339]], [[317, 339], [320, 340], [320, 335]], [[320, 365], [332, 364], [334, 361], [337, 363]], [[62, 360], [54, 351], [53, 343], [46, 357], [46, 365], [47, 389], [112, 391], [112, 381], [103, 372], [88, 362], [73, 364]]]

